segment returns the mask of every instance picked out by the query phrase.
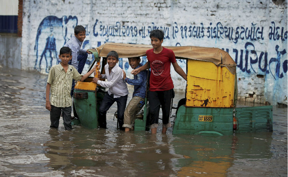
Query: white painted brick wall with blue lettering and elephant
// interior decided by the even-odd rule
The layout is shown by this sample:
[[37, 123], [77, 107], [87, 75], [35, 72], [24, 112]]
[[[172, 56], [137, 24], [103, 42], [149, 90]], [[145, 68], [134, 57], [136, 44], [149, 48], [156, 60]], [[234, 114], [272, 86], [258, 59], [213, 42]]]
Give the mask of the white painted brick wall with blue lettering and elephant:
[[[76, 22], [86, 28], [85, 49], [104, 42], [150, 44], [155, 28], [164, 29], [166, 46], [224, 49], [237, 61], [239, 99], [287, 104], [287, 0], [25, 0], [22, 69], [48, 72]], [[55, 42], [45, 49], [48, 36]], [[43, 51], [47, 57], [39, 65]], [[119, 65], [129, 73], [126, 62]], [[186, 63], [178, 63], [185, 71]], [[184, 90], [186, 82], [171, 73], [175, 89]]]

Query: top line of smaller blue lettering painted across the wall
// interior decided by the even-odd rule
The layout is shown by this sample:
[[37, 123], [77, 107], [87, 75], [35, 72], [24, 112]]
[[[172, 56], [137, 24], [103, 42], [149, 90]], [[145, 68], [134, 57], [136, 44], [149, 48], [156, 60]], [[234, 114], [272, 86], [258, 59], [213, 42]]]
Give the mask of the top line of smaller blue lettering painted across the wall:
[[[177, 22], [174, 22], [172, 26], [155, 26], [152, 22], [150, 26], [129, 26], [120, 25], [120, 22], [116, 22], [115, 25], [105, 25], [102, 21], [96, 19], [93, 25], [93, 35], [95, 37], [102, 36], [109, 40], [109, 37], [149, 37], [150, 31], [155, 29], [163, 29], [165, 33], [165, 39], [176, 39], [176, 38], [203, 38], [203, 40], [208, 39], [228, 39], [233, 41], [235, 44], [239, 40], [264, 40], [263, 31], [264, 27], [258, 25], [257, 23], [251, 23], [251, 27], [228, 27], [224, 26], [221, 22], [209, 23], [209, 25], [204, 26], [203, 23], [200, 25], [184, 25], [178, 26]], [[276, 27], [275, 22], [271, 22], [269, 27], [271, 30], [269, 33], [269, 39], [271, 40], [287, 40], [288, 31], [284, 30], [284, 27]]]

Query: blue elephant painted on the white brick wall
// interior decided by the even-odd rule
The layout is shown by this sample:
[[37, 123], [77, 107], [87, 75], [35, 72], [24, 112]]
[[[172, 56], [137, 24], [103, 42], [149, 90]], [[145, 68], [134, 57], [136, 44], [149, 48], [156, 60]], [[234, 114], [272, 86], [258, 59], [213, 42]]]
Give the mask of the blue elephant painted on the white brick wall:
[[[56, 64], [59, 47], [62, 47], [74, 35], [74, 27], [77, 25], [76, 16], [47, 16], [39, 24], [34, 51], [36, 52], [36, 61], [34, 69], [41, 71], [49, 69]], [[57, 39], [57, 40], [56, 40]], [[43, 64], [45, 59], [45, 65]], [[41, 68], [44, 65], [45, 68]]]

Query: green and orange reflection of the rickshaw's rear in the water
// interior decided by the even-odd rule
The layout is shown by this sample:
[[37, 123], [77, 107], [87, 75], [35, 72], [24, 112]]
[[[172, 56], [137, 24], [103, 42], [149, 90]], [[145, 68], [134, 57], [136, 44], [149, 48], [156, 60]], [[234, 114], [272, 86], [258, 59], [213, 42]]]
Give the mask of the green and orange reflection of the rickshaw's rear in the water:
[[[263, 159], [271, 159], [271, 133], [264, 134], [261, 138], [247, 133], [221, 137], [194, 135], [193, 146], [188, 141], [191, 137], [186, 137], [186, 142], [174, 141], [175, 152], [185, 157], [179, 159], [181, 169], [177, 176], [227, 176], [235, 167], [238, 171], [245, 165], [237, 164], [239, 160], [261, 163]], [[179, 139], [184, 140], [183, 136]]]

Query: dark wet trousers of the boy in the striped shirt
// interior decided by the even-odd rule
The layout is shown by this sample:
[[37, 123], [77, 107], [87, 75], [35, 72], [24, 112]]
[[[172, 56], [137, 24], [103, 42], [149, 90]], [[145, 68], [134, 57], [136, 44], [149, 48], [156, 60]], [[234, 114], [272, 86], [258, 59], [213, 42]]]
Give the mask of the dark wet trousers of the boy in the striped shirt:
[[60, 115], [62, 112], [63, 115], [63, 122], [65, 130], [71, 130], [71, 107], [55, 107], [51, 105], [51, 111], [50, 111], [50, 121], [51, 125], [50, 127], [58, 128], [59, 127], [59, 120]]

